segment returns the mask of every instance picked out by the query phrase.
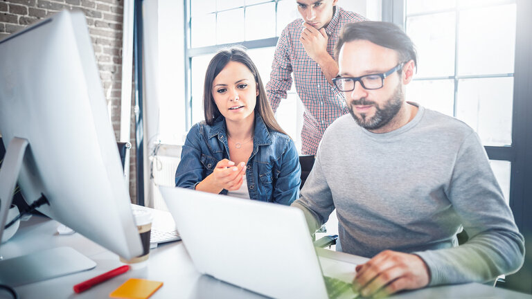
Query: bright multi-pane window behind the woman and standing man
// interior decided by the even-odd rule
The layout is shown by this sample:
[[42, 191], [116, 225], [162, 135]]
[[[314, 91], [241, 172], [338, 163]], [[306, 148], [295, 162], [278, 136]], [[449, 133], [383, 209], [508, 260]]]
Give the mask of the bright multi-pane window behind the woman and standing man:
[[[256, 64], [263, 84], [267, 84], [278, 35], [290, 21], [299, 17], [299, 13], [292, 0], [189, 0], [186, 3], [186, 10], [190, 8], [186, 36], [190, 100], [186, 107], [186, 126], [190, 128], [204, 119], [204, 75], [216, 51], [231, 44], [242, 44], [248, 48], [247, 53]], [[303, 110], [294, 90], [281, 105], [276, 118], [297, 144], [301, 125], [298, 126], [294, 111], [298, 111], [299, 123], [302, 123]]]

